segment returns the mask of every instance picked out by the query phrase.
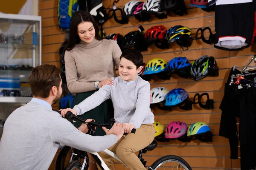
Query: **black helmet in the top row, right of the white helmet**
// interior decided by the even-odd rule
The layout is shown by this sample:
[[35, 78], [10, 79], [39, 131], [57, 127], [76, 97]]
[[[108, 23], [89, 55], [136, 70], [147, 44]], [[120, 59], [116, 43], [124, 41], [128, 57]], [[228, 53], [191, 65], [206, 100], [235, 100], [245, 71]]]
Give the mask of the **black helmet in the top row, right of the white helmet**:
[[184, 0], [161, 0], [160, 8], [162, 11], [172, 11], [180, 16], [188, 14]]

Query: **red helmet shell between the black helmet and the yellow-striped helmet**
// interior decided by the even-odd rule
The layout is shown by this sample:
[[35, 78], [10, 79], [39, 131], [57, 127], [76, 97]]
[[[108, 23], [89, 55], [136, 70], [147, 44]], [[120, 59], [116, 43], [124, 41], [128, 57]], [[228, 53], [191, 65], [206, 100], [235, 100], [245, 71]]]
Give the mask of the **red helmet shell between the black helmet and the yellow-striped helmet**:
[[166, 28], [164, 26], [152, 26], [145, 34], [147, 42], [153, 42], [156, 40], [163, 40], [166, 36]]

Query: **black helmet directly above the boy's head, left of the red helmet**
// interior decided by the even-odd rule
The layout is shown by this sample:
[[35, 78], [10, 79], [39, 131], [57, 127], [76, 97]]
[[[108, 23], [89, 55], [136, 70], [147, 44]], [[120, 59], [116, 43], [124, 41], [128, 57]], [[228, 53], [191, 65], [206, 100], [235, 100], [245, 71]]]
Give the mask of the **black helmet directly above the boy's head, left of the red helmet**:
[[123, 37], [121, 45], [122, 51], [131, 47], [139, 51], [147, 50], [144, 35], [140, 31], [131, 31]]

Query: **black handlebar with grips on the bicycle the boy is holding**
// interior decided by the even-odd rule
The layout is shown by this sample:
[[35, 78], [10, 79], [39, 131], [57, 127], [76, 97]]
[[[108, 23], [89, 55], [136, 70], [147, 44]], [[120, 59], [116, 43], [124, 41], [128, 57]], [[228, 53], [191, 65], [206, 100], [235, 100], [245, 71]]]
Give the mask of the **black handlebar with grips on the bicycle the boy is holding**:
[[[82, 118], [80, 118], [80, 117], [74, 115], [71, 111], [68, 111], [68, 112], [65, 114], [65, 118], [66, 118], [68, 121], [70, 121], [70, 122], [72, 122], [72, 121], [75, 120], [75, 119], [77, 119], [77, 120], [79, 120], [79, 121], [81, 121], [81, 122], [85, 122], [85, 121], [86, 121], [85, 119], [82, 119]], [[104, 126], [110, 126], [110, 127], [112, 127], [115, 122], [116, 122], [116, 120], [112, 118], [112, 119], [110, 120], [110, 123], [98, 123], [98, 122], [91, 121], [91, 122], [87, 122], [87, 125], [89, 125], [89, 126], [94, 126], [94, 127], [104, 127]], [[133, 128], [133, 129], [131, 130], [131, 133], [135, 133], [135, 132], [136, 132], [136, 129]]]

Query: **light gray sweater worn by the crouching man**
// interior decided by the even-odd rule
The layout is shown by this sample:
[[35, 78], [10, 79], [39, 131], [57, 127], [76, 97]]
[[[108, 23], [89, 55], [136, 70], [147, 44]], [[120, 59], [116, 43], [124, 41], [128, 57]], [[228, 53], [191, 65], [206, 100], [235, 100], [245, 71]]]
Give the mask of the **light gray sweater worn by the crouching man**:
[[60, 144], [99, 152], [117, 142], [116, 135], [90, 136], [44, 105], [29, 102], [6, 120], [0, 142], [1, 170], [48, 170]]

